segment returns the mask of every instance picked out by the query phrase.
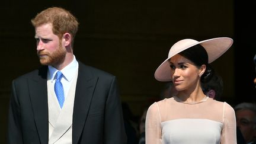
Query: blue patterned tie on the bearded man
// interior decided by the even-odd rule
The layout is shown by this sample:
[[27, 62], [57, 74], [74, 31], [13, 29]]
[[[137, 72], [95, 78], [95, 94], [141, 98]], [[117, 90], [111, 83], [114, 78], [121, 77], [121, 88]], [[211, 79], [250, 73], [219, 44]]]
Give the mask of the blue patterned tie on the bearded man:
[[55, 94], [57, 96], [57, 100], [59, 101], [60, 108], [62, 108], [65, 100], [63, 86], [62, 86], [62, 83], [60, 82], [62, 76], [63, 76], [62, 72], [58, 71], [56, 73]]

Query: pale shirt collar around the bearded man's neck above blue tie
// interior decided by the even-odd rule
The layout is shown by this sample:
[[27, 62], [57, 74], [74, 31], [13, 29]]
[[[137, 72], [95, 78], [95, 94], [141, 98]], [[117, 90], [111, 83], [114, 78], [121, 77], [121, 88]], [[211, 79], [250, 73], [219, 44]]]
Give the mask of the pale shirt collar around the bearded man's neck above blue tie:
[[[56, 68], [54, 68], [53, 66], [48, 66], [49, 68], [49, 73], [50, 73], [50, 80], [51, 82], [53, 82], [53, 80], [55, 79], [55, 75], [57, 73]], [[78, 61], [75, 58], [75, 55], [73, 56], [73, 60], [71, 63], [69, 63], [69, 65], [65, 66], [65, 68], [63, 68], [61, 70], [62, 74], [63, 74], [63, 78], [65, 78], [67, 81], [71, 81], [73, 76], [75, 76], [75, 72], [78, 71]]]

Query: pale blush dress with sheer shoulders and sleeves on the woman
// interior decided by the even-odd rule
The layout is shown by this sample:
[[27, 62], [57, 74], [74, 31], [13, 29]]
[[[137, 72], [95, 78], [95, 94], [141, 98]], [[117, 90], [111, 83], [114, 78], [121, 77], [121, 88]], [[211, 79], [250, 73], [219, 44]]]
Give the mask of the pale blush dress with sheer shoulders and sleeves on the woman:
[[146, 115], [146, 144], [236, 144], [231, 105], [205, 97], [187, 104], [177, 97], [153, 103]]

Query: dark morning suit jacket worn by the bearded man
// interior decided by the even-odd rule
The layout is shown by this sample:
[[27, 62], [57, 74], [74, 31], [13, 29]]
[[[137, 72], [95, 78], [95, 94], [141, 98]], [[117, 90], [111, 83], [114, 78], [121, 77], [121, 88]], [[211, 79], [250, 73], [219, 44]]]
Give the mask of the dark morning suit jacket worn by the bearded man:
[[[48, 143], [47, 71], [43, 66], [12, 82], [8, 143]], [[79, 62], [72, 143], [126, 143], [116, 77]]]

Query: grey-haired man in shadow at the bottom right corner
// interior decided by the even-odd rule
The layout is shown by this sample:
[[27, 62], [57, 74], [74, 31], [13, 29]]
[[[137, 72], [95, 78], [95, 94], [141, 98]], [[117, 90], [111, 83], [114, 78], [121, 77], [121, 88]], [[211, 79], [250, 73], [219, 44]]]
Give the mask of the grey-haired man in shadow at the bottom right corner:
[[247, 144], [256, 143], [256, 104], [241, 103], [234, 108], [236, 126], [241, 130]]

